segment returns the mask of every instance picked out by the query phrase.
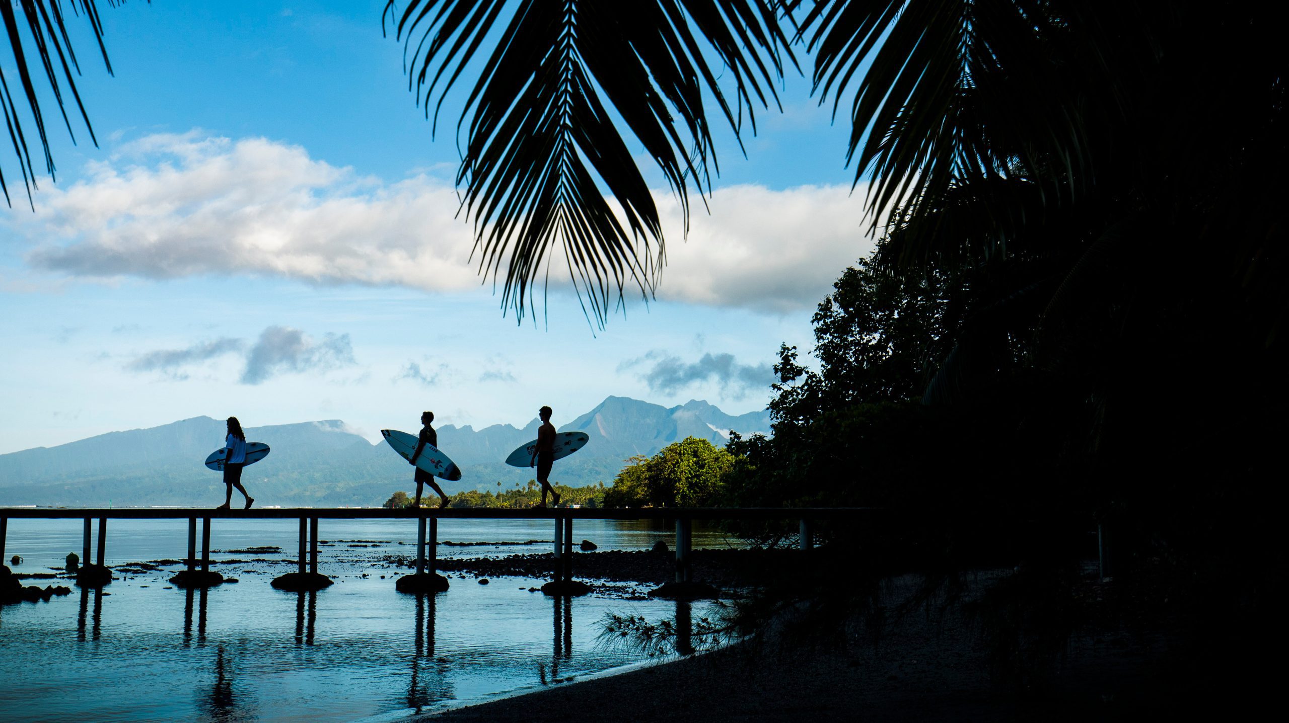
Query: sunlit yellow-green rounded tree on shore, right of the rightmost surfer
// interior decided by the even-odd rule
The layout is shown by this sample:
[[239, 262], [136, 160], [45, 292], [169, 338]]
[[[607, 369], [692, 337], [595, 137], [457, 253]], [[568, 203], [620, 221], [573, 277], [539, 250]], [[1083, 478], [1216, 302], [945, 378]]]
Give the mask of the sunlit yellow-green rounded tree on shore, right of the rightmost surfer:
[[687, 437], [652, 458], [633, 456], [605, 494], [605, 506], [709, 506], [722, 495], [733, 456]]

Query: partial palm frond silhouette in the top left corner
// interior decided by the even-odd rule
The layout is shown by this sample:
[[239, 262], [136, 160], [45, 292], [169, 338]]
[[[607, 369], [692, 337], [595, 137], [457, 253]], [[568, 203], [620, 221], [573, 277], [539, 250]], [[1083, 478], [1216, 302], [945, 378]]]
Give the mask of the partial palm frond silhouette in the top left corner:
[[[111, 6], [120, 5], [124, 1], [107, 0]], [[21, 19], [18, 13], [14, 12], [14, 5], [22, 8]], [[103, 63], [107, 66], [107, 72], [111, 73], [112, 64], [107, 59], [107, 48], [103, 45], [103, 23], [99, 19], [95, 0], [68, 0], [68, 5], [71, 5], [73, 13], [85, 17], [103, 54]], [[4, 1], [0, 3], [0, 21], [4, 22], [5, 36], [9, 40], [9, 49], [13, 53], [18, 80], [22, 85], [22, 94], [26, 99], [24, 107], [31, 119], [28, 122], [35, 124], [36, 134], [40, 138], [40, 146], [45, 156], [45, 170], [50, 177], [57, 178], [54, 156], [49, 148], [45, 116], [41, 112], [40, 101], [36, 95], [36, 81], [34, 80], [34, 75], [36, 75], [34, 72], [35, 64], [39, 63], [44, 71], [45, 81], [49, 84], [49, 89], [58, 102], [58, 111], [62, 113], [63, 125], [67, 126], [67, 133], [71, 135], [72, 142], [76, 142], [76, 134], [72, 130], [71, 120], [67, 117], [67, 99], [63, 95], [63, 82], [66, 82], [67, 92], [76, 102], [76, 108], [85, 122], [90, 140], [98, 146], [98, 139], [94, 137], [94, 126], [89, 121], [89, 113], [85, 112], [80, 92], [76, 90], [76, 80], [72, 71], [75, 70], [75, 75], [80, 75], [80, 63], [76, 61], [76, 53], [67, 35], [67, 22], [63, 15], [62, 3], [61, 0]], [[26, 30], [27, 40], [23, 39], [23, 28]], [[31, 46], [30, 54], [27, 49], [28, 44]], [[62, 81], [59, 81], [59, 75], [63, 79]], [[14, 102], [9, 89], [9, 80], [5, 77], [3, 68], [0, 68], [0, 107], [4, 110], [9, 142], [18, 159], [18, 169], [22, 173], [23, 186], [27, 189], [27, 202], [35, 207], [31, 198], [31, 189], [36, 186], [36, 168], [31, 161], [31, 151], [27, 147], [27, 134], [23, 131], [22, 115], [18, 112], [18, 104]], [[0, 189], [4, 191], [5, 202], [12, 206], [13, 200], [9, 197], [9, 186], [5, 180], [3, 165], [0, 165]]]

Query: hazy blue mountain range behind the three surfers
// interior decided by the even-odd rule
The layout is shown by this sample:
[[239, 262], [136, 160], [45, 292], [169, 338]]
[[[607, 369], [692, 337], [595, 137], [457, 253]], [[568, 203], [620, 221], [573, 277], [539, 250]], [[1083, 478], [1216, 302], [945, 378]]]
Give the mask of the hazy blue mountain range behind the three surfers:
[[[464, 473], [449, 492], [526, 485], [532, 470], [503, 460], [536, 437], [539, 421], [522, 429], [494, 424], [438, 427], [440, 448]], [[727, 415], [704, 401], [663, 407], [608, 397], [559, 428], [581, 430], [590, 442], [556, 463], [552, 481], [571, 486], [612, 483], [624, 460], [652, 455], [686, 437], [723, 446], [731, 429], [768, 433], [770, 414]], [[405, 428], [415, 433], [415, 427]], [[0, 505], [146, 506], [223, 503], [220, 476], [202, 465], [222, 446], [224, 421], [197, 416], [148, 429], [111, 432], [57, 447], [0, 455]], [[342, 420], [303, 421], [246, 429], [251, 442], [272, 452], [246, 468], [244, 482], [259, 505], [375, 506], [397, 490], [412, 492], [412, 470], [384, 442], [371, 443]]]

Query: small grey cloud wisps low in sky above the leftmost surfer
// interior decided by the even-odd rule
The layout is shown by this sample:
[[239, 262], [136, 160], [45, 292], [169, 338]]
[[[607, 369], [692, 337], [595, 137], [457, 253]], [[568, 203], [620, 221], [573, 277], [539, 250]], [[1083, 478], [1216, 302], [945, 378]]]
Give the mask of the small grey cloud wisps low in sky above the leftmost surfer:
[[160, 371], [177, 379], [187, 379], [183, 369], [227, 354], [241, 354], [245, 358], [246, 366], [240, 381], [253, 385], [278, 374], [330, 371], [356, 363], [348, 334], [325, 334], [322, 339], [313, 339], [299, 329], [269, 326], [254, 344], [226, 336], [182, 349], [157, 349], [134, 357], [125, 369], [134, 372]]

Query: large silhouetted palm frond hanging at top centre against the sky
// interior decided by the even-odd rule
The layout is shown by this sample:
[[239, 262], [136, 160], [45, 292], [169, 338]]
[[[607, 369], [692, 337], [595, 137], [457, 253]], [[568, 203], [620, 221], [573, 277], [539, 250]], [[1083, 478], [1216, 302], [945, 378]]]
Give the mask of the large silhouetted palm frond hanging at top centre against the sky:
[[[628, 287], [652, 296], [665, 246], [630, 139], [687, 223], [691, 184], [709, 192], [719, 170], [708, 104], [739, 134], [745, 113], [754, 131], [755, 107], [777, 103], [773, 82], [791, 61], [779, 9], [776, 0], [410, 0], [398, 13], [391, 0], [409, 85], [436, 125], [458, 81], [477, 72], [458, 124], [456, 180], [480, 272], [501, 281], [503, 308], [522, 320], [556, 245], [598, 322]], [[494, 49], [474, 71], [486, 43]]]

